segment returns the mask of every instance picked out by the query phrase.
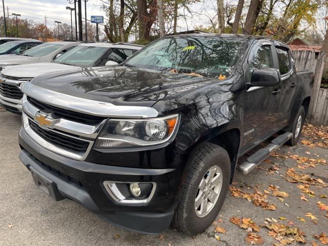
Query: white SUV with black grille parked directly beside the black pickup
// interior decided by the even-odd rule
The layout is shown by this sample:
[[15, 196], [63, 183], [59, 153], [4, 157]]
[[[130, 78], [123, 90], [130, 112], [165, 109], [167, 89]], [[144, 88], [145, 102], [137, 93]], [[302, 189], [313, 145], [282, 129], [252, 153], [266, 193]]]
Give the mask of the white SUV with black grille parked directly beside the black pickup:
[[23, 93], [20, 87], [36, 76], [71, 70], [76, 67], [110, 66], [122, 63], [142, 46], [133, 44], [81, 44], [56, 58], [52, 63], [10, 66], [0, 74], [0, 105], [13, 113], [22, 112]]

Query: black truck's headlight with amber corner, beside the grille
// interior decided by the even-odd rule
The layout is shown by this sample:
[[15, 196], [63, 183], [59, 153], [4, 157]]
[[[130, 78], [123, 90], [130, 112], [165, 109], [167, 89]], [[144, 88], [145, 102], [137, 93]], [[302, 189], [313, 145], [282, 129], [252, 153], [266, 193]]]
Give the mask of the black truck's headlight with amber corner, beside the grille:
[[150, 146], [168, 141], [174, 134], [179, 115], [152, 119], [108, 119], [94, 148]]

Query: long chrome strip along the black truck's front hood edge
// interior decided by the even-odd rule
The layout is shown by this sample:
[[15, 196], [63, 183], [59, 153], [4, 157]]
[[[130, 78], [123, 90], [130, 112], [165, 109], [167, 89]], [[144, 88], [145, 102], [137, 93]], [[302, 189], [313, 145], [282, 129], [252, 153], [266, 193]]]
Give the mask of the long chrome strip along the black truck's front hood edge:
[[26, 83], [22, 87], [22, 91], [43, 103], [83, 114], [121, 118], [152, 118], [158, 116], [158, 112], [151, 107], [115, 106], [103, 101], [95, 101], [48, 90], [33, 85], [33, 83]]

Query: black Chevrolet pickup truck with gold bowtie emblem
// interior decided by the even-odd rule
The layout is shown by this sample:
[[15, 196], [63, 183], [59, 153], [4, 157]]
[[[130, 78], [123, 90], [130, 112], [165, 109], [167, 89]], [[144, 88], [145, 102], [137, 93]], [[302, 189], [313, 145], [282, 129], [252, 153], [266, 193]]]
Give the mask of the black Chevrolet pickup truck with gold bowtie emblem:
[[119, 66], [24, 85], [19, 158], [55, 200], [133, 231], [172, 223], [195, 235], [218, 215], [236, 170], [296, 144], [312, 86], [277, 40], [168, 36]]

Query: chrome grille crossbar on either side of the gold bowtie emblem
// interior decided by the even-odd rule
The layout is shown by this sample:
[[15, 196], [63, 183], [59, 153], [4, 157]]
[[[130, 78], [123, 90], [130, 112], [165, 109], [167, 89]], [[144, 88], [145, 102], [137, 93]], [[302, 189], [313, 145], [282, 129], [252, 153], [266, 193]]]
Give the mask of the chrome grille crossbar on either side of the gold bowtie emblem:
[[[26, 99], [26, 95], [24, 95], [23, 111], [24, 113], [29, 115], [32, 119], [34, 119], [35, 114], [40, 110], [34, 107], [33, 105], [31, 105]], [[90, 126], [90, 125], [81, 124], [79, 122], [60, 118], [59, 122], [57, 122], [53, 128], [74, 135], [95, 139], [100, 129], [104, 126], [106, 120], [107, 119], [104, 119], [96, 126]]]

